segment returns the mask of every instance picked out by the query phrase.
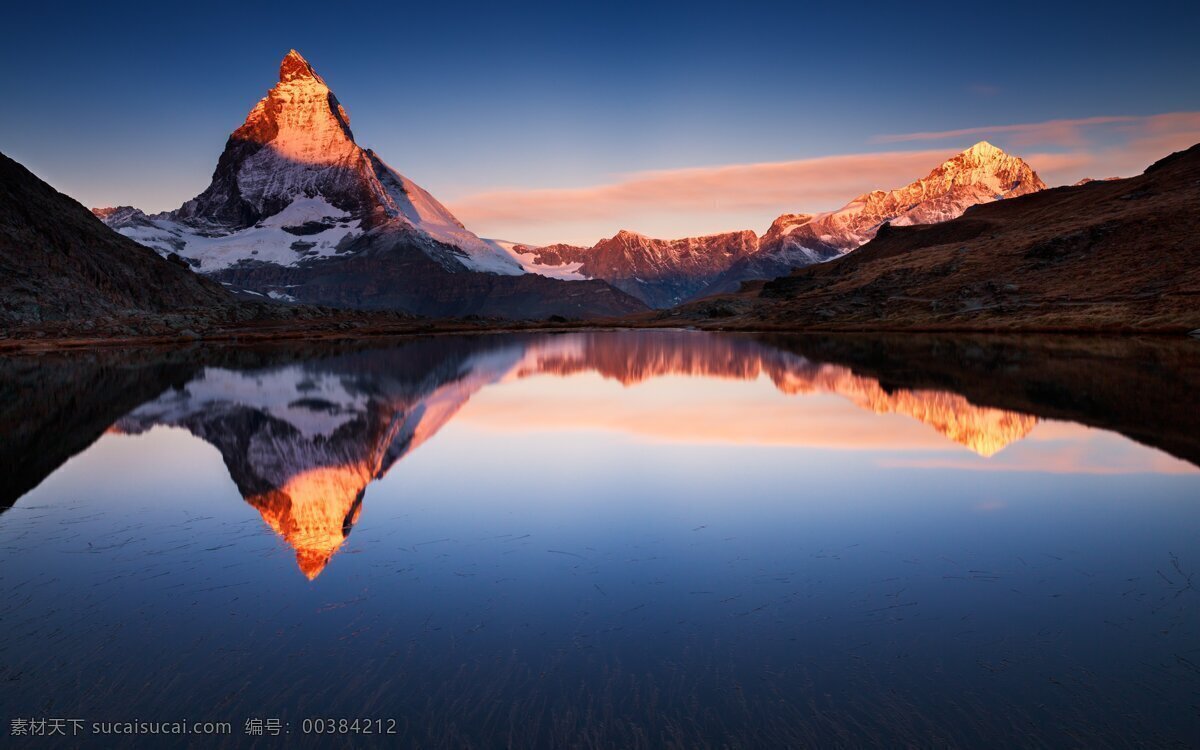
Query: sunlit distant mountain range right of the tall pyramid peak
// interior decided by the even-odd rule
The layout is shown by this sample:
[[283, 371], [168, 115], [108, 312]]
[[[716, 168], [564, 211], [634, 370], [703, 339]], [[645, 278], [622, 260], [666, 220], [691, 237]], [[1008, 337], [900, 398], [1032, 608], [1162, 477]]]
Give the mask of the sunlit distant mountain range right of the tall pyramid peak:
[[665, 308], [838, 258], [869, 241], [884, 223], [932, 224], [973, 205], [1045, 187], [1022, 160], [980, 142], [905, 187], [876, 190], [826, 214], [785, 214], [762, 238], [746, 230], [656, 240], [622, 230], [592, 247], [515, 250], [529, 258], [526, 268], [535, 272], [565, 269], [577, 278], [602, 278]]

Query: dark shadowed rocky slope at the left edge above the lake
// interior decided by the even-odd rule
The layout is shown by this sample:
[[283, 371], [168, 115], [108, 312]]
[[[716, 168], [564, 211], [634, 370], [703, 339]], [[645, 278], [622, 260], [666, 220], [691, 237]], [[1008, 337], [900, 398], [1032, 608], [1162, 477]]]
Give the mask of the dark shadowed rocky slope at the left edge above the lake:
[[116, 234], [0, 154], [0, 329], [162, 313], [222, 313], [233, 298]]

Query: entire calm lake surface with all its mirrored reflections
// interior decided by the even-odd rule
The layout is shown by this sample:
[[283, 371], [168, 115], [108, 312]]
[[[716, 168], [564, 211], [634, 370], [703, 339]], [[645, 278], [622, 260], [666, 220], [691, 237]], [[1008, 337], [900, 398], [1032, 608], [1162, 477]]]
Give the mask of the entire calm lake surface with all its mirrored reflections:
[[1196, 746], [1198, 348], [656, 331], [10, 359], [4, 720]]

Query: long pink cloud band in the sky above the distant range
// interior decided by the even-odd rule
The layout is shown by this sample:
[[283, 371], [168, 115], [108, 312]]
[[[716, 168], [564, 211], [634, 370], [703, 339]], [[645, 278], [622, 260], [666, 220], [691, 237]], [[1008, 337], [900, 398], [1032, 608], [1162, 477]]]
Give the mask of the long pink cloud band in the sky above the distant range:
[[906, 185], [985, 138], [1022, 156], [1046, 182], [1064, 185], [1139, 174], [1171, 151], [1200, 143], [1200, 112], [878, 136], [872, 140], [944, 145], [636, 172], [584, 187], [500, 188], [451, 202], [451, 209], [479, 233], [535, 244], [592, 244], [622, 228], [655, 236], [762, 233], [780, 214], [828, 210], [871, 190]]

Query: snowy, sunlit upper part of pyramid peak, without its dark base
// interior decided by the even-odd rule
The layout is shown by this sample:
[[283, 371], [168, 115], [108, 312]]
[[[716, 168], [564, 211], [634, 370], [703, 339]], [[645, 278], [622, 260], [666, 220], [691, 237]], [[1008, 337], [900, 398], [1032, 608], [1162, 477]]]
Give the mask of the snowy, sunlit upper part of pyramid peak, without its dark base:
[[409, 228], [457, 248], [444, 259], [474, 271], [521, 274], [433, 196], [354, 142], [350, 116], [300, 53], [233, 132], [212, 182], [175, 211], [98, 212], [122, 234], [214, 271], [242, 260], [294, 265], [330, 256], [373, 228]]

